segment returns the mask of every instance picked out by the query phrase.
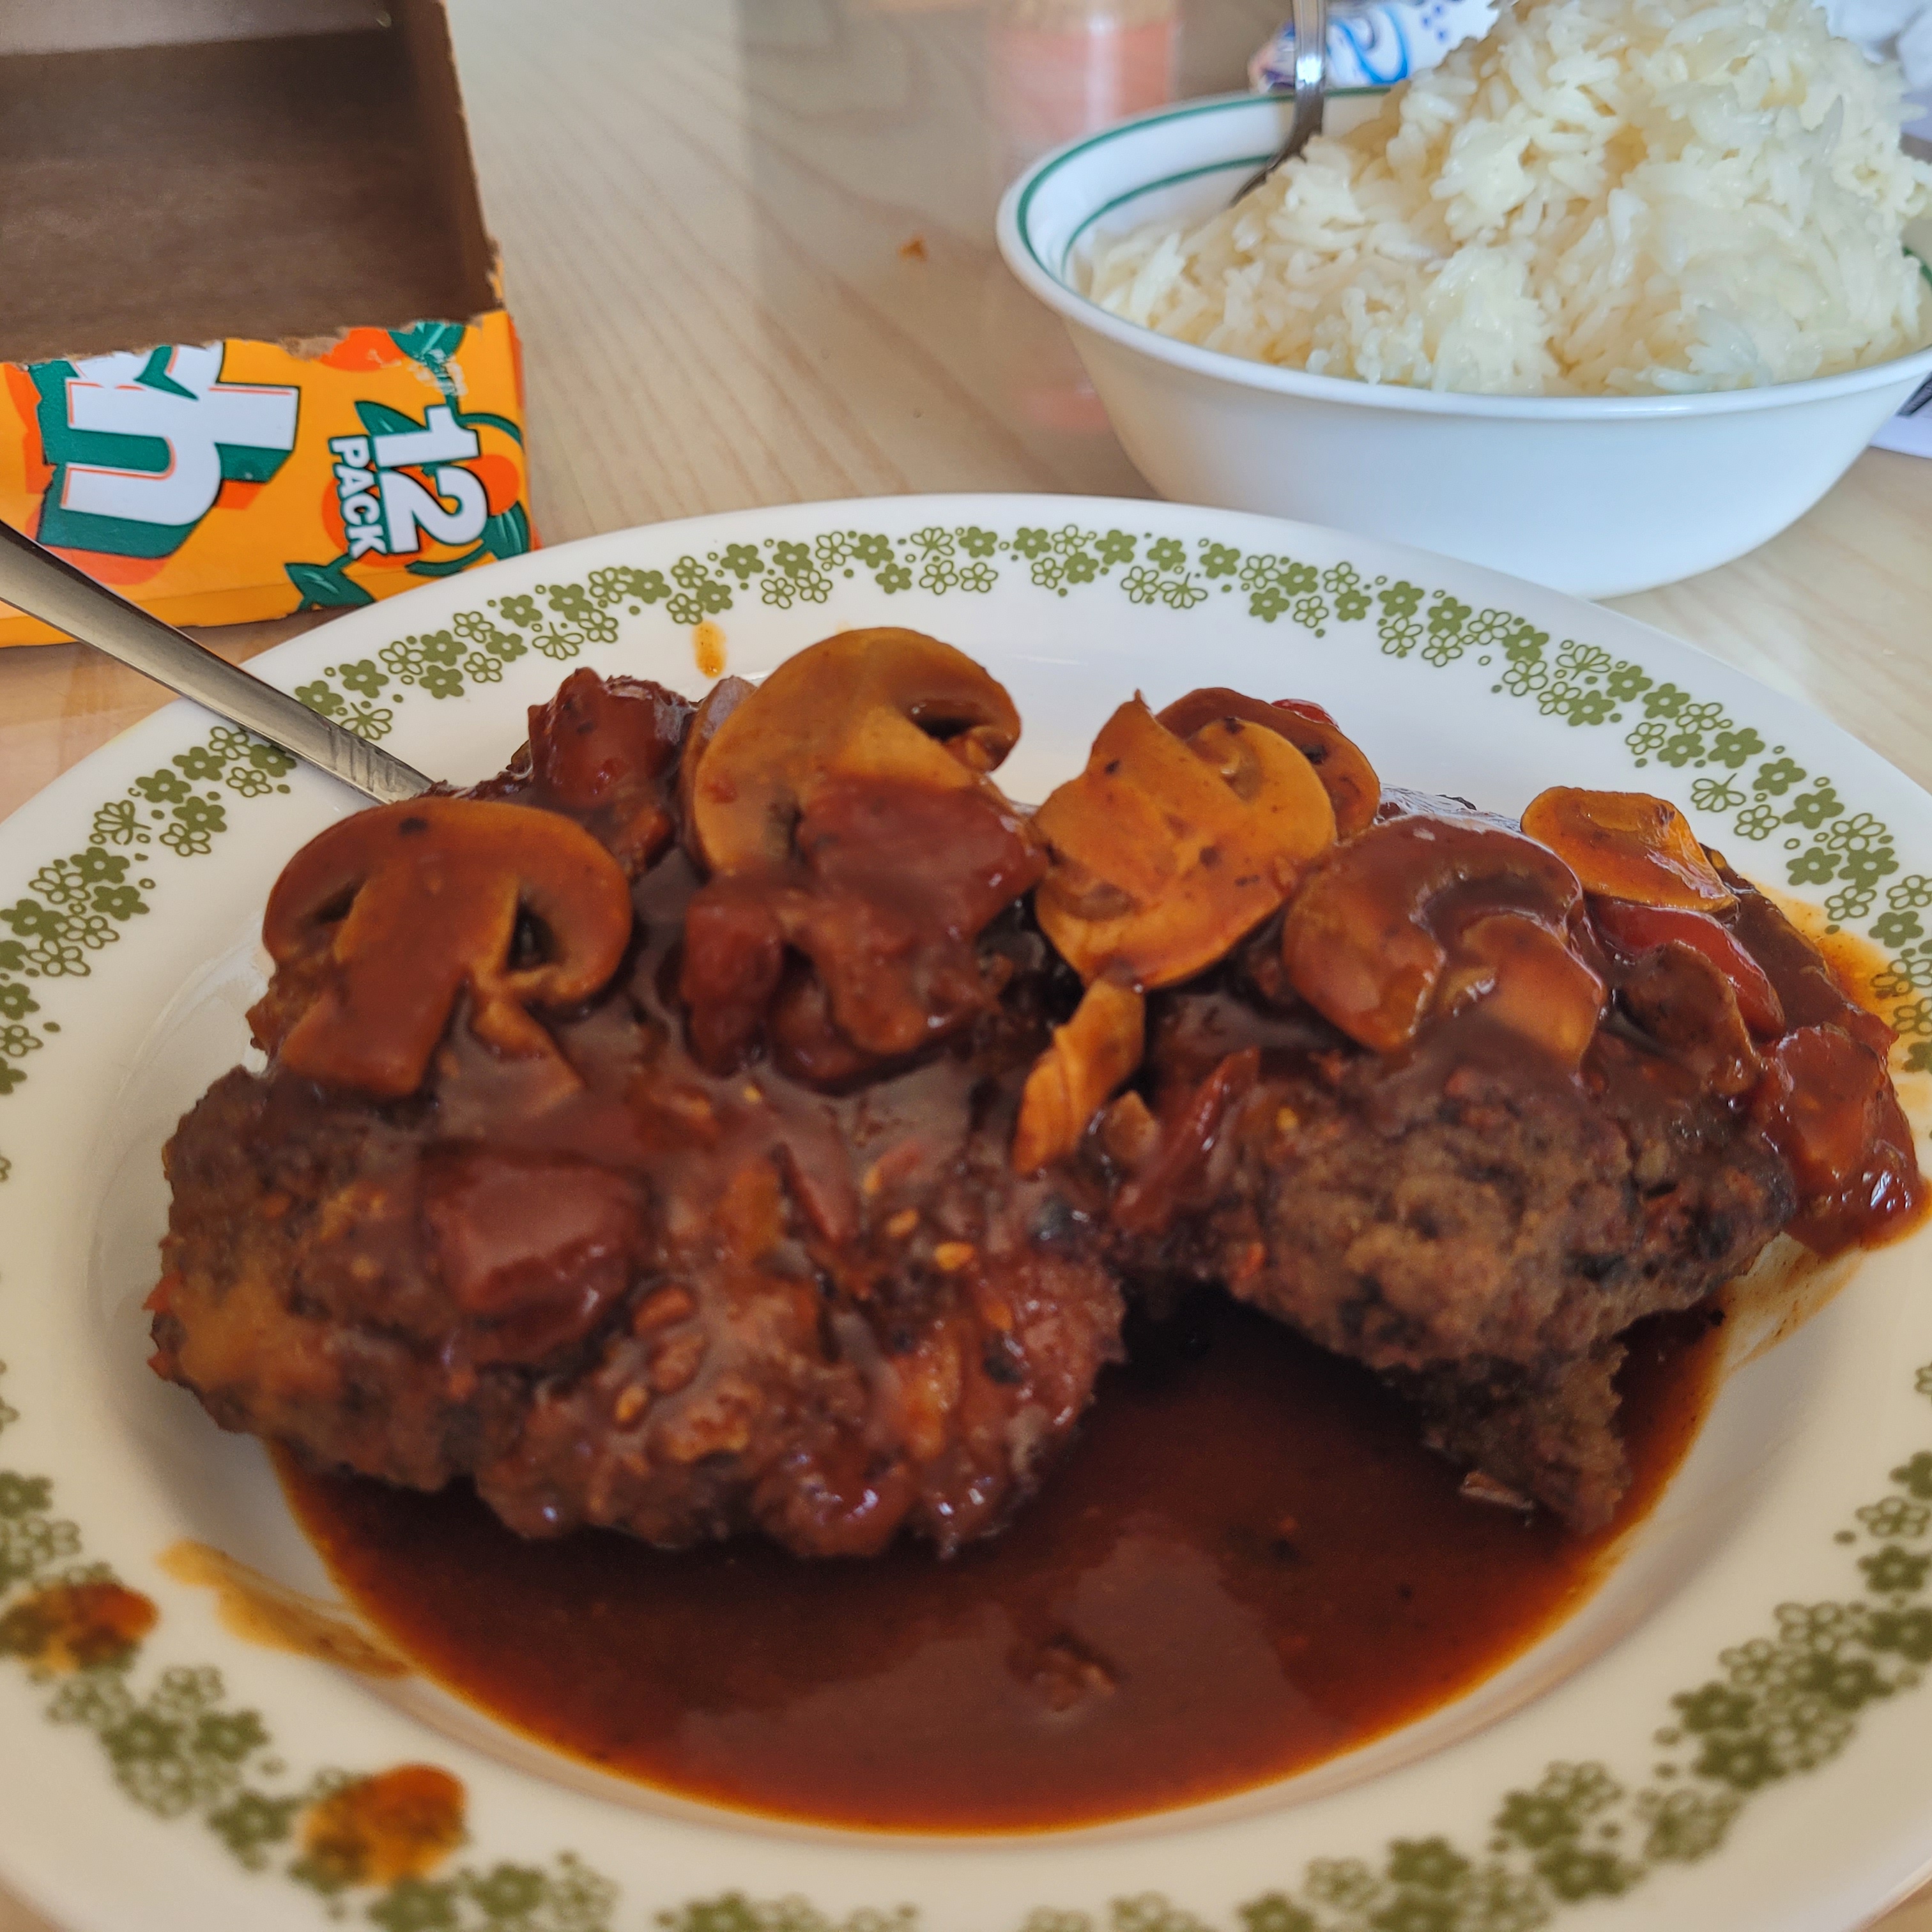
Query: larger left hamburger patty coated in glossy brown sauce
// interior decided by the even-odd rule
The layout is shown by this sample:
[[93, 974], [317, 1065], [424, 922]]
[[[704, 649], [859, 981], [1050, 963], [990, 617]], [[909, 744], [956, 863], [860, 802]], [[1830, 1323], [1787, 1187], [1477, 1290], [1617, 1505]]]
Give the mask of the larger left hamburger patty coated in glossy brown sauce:
[[[1061, 968], [1010, 912], [964, 949], [954, 922], [902, 949], [947, 949], [952, 981], [964, 958], [976, 995], [912, 1063], [844, 1094], [792, 1078], [777, 1061], [823, 1045], [800, 997], [796, 1051], [701, 1065], [678, 993], [697, 873], [638, 831], [676, 808], [655, 781], [612, 804], [638, 769], [674, 779], [686, 717], [578, 672], [483, 788], [574, 813], [638, 873], [616, 980], [549, 1018], [562, 1065], [495, 1051], [460, 997], [419, 1090], [342, 1092], [288, 1066], [323, 966], [284, 964], [255, 1014], [280, 1055], [218, 1080], [166, 1151], [155, 1366], [224, 1428], [315, 1463], [431, 1490], [473, 1476], [524, 1534], [757, 1528], [819, 1555], [906, 1524], [951, 1549], [1034, 1488], [1119, 1350], [1097, 1200], [1007, 1161]], [[545, 784], [560, 752], [593, 773], [576, 792]], [[920, 866], [929, 910], [958, 881], [945, 850]], [[891, 883], [786, 889], [877, 943]]]

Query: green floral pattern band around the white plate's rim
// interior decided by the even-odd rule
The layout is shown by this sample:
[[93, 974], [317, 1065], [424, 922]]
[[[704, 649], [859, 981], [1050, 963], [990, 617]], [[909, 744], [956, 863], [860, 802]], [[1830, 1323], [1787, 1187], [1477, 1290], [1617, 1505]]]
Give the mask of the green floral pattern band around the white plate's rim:
[[[866, 576], [885, 595], [985, 595], [1005, 574], [1068, 597], [1111, 587], [1130, 605], [1194, 611], [1238, 599], [1256, 622], [1314, 638], [1366, 628], [1379, 651], [1432, 670], [1472, 659], [1495, 696], [1534, 703], [1577, 728], [1617, 728], [1633, 767], [1696, 771], [1692, 804], [1729, 819], [1748, 846], [1776, 852], [1795, 887], [1832, 885], [1828, 914], [1864, 923], [1886, 949], [1878, 993], [1903, 1036], [1903, 1063], [1932, 1070], [1932, 879], [1899, 875], [1891, 831], [1837, 792], [1828, 773], [1723, 705], [1654, 678], [1526, 618], [1472, 609], [1349, 562], [1318, 568], [1275, 553], [1153, 531], [927, 526], [904, 537], [837, 529], [811, 539], [728, 543], [668, 570], [612, 566], [582, 582], [485, 599], [446, 630], [412, 634], [373, 657], [330, 665], [298, 696], [369, 740], [388, 736], [417, 697], [497, 684], [526, 653], [570, 663], [609, 647], [626, 620], [697, 624], [742, 603], [788, 611], [827, 603]], [[209, 856], [230, 811], [286, 792], [288, 753], [226, 726], [135, 779], [93, 815], [91, 840], [58, 854], [0, 908], [0, 1099], [19, 1090], [60, 1034], [43, 1010], [48, 981], [85, 980], [102, 949], [147, 914], [160, 867]], [[162, 856], [166, 854], [166, 858]], [[1750, 858], [1745, 858], [1747, 867]], [[1882, 900], [1882, 906], [1880, 906]], [[0, 1155], [0, 1182], [10, 1163]], [[0, 1364], [4, 1374], [4, 1364]], [[1932, 1397], [1932, 1364], [1917, 1391]], [[17, 1412], [0, 1401], [0, 1430]], [[1754, 1793], [1841, 1752], [1861, 1714], [1918, 1687], [1932, 1663], [1932, 1449], [1891, 1470], [1889, 1488], [1853, 1511], [1849, 1594], [1783, 1604], [1772, 1627], [1723, 1650], [1714, 1673], [1671, 1698], [1654, 1762], [1617, 1776], [1600, 1762], [1551, 1764], [1499, 1797], [1482, 1843], [1395, 1837], [1374, 1862], [1318, 1859], [1298, 1886], [1235, 1911], [1229, 1932], [1530, 1932], [1565, 1907], [1621, 1897], [1671, 1864], [1719, 1849]], [[446, 1876], [357, 1888], [296, 1847], [301, 1814], [346, 1774], [292, 1774], [267, 1718], [236, 1708], [214, 1669], [162, 1669], [137, 1683], [141, 1644], [52, 1677], [33, 1663], [27, 1598], [56, 1584], [110, 1580], [83, 1561], [81, 1532], [58, 1515], [46, 1476], [0, 1470], [0, 1656], [44, 1681], [44, 1716], [95, 1737], [122, 1793], [160, 1818], [197, 1820], [247, 1870], [278, 1870], [317, 1889], [334, 1915], [352, 1905], [384, 1932], [605, 1932], [616, 1886], [572, 1855], [549, 1866], [462, 1866]], [[916, 1932], [912, 1907], [827, 1917], [800, 1897], [726, 1891], [657, 1913], [665, 1932]], [[1163, 1895], [1121, 1897], [1103, 1915], [1041, 1907], [1018, 1932], [1211, 1932]], [[1219, 1932], [1219, 1928], [1213, 1928]]]

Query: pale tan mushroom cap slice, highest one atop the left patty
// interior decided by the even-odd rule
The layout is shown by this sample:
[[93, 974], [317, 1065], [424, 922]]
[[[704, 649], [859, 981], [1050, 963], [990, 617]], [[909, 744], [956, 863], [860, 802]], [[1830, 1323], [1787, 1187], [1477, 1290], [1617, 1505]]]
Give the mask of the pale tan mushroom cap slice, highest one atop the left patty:
[[[713, 873], [782, 869], [792, 829], [833, 779], [983, 790], [1020, 736], [1005, 688], [916, 630], [848, 630], [786, 659], [715, 721], [686, 784]], [[1003, 804], [1003, 800], [1001, 800]]]

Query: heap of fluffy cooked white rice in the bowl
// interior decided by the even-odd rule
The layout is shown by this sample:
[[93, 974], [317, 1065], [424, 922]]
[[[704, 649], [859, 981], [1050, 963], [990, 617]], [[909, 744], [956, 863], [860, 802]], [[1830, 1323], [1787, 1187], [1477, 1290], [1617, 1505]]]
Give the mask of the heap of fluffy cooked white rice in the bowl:
[[1793, 383], [1932, 340], [1901, 77], [1812, 0], [1526, 0], [1236, 209], [1101, 240], [1115, 315], [1495, 394]]

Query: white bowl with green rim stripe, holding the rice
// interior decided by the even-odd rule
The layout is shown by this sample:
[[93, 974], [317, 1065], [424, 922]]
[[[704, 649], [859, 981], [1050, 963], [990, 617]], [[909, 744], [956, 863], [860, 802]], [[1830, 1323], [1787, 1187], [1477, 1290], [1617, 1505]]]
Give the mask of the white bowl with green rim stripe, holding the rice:
[[[1329, 128], [1372, 106], [1337, 97]], [[1047, 155], [999, 209], [1001, 253], [1065, 317], [1126, 454], [1163, 497], [1331, 524], [1615, 597], [1777, 535], [1932, 373], [1922, 350], [1706, 396], [1459, 396], [1194, 348], [1078, 292], [1092, 236], [1209, 213], [1287, 122], [1279, 97], [1163, 108]]]

